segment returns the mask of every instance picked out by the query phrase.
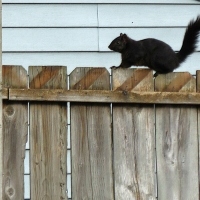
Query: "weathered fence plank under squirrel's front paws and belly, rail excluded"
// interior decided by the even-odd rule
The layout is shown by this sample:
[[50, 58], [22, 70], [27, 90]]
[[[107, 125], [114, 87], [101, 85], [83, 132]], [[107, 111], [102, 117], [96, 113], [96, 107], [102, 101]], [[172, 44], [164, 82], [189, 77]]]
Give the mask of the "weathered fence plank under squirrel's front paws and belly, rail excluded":
[[[113, 70], [113, 90], [153, 91], [148, 69]], [[113, 104], [115, 199], [156, 199], [154, 107]]]

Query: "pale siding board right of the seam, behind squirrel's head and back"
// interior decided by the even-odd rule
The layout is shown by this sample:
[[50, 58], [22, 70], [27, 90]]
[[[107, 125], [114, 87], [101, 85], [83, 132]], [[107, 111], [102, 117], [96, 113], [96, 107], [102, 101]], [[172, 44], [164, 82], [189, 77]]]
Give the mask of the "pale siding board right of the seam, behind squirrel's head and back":
[[[186, 28], [101, 28], [99, 29], [99, 50], [107, 51], [108, 45], [115, 37], [118, 37], [120, 33], [126, 33], [134, 40], [145, 38], [162, 40], [174, 51], [179, 51], [185, 30]], [[200, 41], [197, 46], [197, 50], [200, 50]]]

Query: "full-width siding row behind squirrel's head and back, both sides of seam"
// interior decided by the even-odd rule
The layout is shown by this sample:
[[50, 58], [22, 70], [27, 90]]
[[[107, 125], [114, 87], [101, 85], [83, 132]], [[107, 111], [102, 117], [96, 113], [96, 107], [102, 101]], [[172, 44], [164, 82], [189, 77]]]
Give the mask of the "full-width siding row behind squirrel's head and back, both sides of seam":
[[3, 28], [2, 48], [12, 52], [109, 51], [108, 45], [121, 32], [135, 40], [156, 38], [178, 51], [185, 28], [100, 28], [99, 35], [97, 28]]

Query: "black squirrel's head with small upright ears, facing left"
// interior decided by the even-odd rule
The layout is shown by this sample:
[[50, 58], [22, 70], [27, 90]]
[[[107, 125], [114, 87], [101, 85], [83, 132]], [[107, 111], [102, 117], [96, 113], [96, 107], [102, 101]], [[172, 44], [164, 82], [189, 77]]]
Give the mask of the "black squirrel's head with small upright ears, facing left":
[[108, 46], [108, 48], [110, 50], [113, 50], [113, 51], [121, 53], [125, 49], [127, 41], [128, 41], [128, 36], [126, 34], [120, 33], [120, 36], [117, 37], [117, 38], [115, 38], [110, 43], [110, 45]]

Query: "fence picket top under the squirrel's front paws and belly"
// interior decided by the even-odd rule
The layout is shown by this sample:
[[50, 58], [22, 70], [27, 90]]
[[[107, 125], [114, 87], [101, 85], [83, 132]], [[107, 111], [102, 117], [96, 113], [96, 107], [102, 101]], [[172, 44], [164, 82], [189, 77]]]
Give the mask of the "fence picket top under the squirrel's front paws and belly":
[[153, 91], [153, 73], [149, 69], [114, 69], [112, 70], [113, 90]]

